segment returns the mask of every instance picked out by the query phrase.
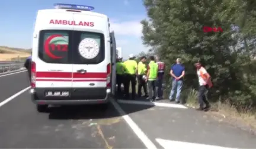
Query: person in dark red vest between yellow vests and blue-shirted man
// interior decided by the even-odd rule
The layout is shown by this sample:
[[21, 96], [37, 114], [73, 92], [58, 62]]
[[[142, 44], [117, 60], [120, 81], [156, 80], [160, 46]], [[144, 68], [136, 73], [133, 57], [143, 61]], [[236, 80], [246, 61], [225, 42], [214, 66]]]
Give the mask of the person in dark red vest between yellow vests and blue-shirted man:
[[163, 99], [162, 84], [164, 80], [165, 63], [160, 61], [159, 57], [156, 56], [156, 64], [158, 64], [158, 77], [156, 82], [157, 92], [158, 92], [158, 97], [156, 97], [156, 100], [158, 100], [158, 99]]

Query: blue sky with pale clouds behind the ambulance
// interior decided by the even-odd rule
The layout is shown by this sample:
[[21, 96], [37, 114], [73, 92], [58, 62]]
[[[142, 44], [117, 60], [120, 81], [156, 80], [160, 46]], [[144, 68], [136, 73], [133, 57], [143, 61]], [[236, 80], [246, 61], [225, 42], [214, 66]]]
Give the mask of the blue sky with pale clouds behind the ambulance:
[[146, 18], [142, 0], [8, 0], [0, 5], [0, 46], [31, 48], [37, 11], [54, 8], [55, 3], [90, 5], [94, 12], [107, 15], [124, 59], [148, 50], [141, 40], [140, 21]]

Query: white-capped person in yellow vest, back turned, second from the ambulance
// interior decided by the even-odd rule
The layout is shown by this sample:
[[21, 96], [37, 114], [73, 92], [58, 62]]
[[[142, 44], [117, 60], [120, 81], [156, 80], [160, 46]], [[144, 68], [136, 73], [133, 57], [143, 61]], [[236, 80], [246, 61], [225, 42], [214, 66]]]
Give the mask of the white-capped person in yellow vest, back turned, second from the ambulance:
[[124, 93], [126, 98], [129, 98], [130, 82], [132, 83], [132, 99], [136, 96], [136, 73], [137, 73], [137, 61], [133, 54], [129, 55], [129, 60], [124, 61], [125, 79], [124, 79]]

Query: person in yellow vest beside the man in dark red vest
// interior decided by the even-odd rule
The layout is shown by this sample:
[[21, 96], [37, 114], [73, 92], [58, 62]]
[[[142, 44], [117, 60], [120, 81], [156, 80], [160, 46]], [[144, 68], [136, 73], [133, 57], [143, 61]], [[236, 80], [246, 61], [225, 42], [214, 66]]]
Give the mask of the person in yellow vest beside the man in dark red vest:
[[[155, 57], [151, 56], [149, 57], [151, 60], [148, 64], [148, 73], [146, 77], [146, 81], [148, 82], [148, 91], [149, 96], [148, 99], [150, 101], [155, 101], [155, 98], [158, 96], [156, 92], [156, 79], [158, 75], [158, 64], [155, 63]], [[153, 95], [152, 95], [153, 90]]]

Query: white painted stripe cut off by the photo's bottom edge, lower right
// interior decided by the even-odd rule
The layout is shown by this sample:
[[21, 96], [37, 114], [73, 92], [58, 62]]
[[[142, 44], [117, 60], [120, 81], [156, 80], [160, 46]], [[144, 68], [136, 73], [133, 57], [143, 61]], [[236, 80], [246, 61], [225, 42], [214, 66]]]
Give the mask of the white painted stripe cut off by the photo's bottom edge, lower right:
[[206, 144], [197, 144], [191, 142], [181, 142], [181, 141], [171, 141], [164, 140], [161, 138], [156, 138], [156, 142], [158, 142], [164, 149], [238, 149], [238, 148], [228, 148], [228, 147], [220, 147], [215, 145], [206, 145]]

